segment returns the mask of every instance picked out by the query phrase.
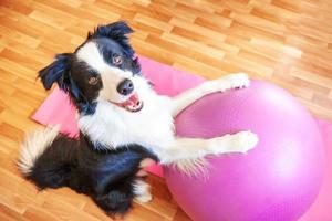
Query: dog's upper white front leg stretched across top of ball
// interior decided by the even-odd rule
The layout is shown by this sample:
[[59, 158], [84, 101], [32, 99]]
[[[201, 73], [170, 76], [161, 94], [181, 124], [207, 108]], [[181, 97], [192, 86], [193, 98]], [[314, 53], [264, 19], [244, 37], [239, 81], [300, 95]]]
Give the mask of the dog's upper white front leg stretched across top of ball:
[[249, 86], [249, 84], [250, 81], [248, 78], [248, 75], [243, 73], [230, 74], [218, 80], [204, 82], [197, 87], [188, 90], [172, 98], [172, 115], [176, 116], [193, 102], [207, 94], [214, 92], [225, 92], [230, 88], [247, 87]]

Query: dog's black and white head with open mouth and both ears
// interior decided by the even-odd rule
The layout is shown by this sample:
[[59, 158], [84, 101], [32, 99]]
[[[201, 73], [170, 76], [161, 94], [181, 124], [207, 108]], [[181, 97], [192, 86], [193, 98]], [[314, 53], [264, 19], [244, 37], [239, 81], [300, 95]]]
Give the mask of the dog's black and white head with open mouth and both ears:
[[123, 21], [97, 27], [73, 53], [55, 56], [39, 76], [46, 90], [53, 83], [65, 91], [84, 114], [93, 114], [97, 101], [104, 99], [128, 112], [143, 107], [135, 81], [141, 66], [127, 34], [133, 30]]

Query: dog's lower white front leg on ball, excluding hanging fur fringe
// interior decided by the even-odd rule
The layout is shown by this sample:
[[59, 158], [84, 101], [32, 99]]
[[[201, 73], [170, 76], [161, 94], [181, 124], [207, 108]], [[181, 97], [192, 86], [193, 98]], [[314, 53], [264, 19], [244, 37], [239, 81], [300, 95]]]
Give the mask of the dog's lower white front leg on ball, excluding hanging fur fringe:
[[158, 155], [162, 164], [187, 160], [228, 152], [247, 152], [258, 143], [258, 137], [251, 131], [240, 131], [210, 139], [176, 138], [169, 147]]

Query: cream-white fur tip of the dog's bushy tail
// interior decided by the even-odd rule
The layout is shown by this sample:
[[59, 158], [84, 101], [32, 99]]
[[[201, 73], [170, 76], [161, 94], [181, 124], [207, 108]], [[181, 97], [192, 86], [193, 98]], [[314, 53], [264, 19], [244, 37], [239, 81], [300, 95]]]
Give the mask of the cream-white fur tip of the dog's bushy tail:
[[21, 145], [18, 166], [23, 175], [29, 175], [35, 162], [35, 159], [53, 143], [59, 134], [59, 126], [45, 129], [39, 129], [27, 135]]

